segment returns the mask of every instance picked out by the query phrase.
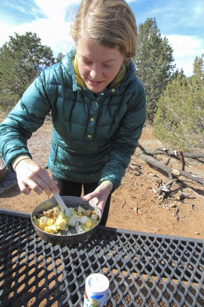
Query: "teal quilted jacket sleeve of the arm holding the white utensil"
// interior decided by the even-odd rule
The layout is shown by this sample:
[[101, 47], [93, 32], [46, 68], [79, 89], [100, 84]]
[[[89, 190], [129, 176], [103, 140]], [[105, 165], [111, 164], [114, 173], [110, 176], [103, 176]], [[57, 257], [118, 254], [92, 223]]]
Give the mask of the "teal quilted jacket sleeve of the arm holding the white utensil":
[[31, 138], [32, 132], [42, 126], [50, 109], [44, 72], [41, 72], [0, 125], [0, 152], [9, 170], [13, 171], [11, 162], [18, 155], [31, 157], [27, 140]]

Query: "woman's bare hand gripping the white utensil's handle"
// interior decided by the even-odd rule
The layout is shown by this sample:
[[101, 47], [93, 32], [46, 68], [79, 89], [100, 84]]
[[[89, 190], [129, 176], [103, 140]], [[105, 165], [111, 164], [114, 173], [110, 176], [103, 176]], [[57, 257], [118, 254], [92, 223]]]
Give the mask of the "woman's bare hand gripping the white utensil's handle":
[[22, 193], [30, 194], [31, 190], [37, 194], [43, 191], [50, 195], [51, 191], [59, 193], [57, 182], [53, 181], [46, 170], [31, 159], [24, 159], [18, 162], [15, 167], [17, 181]]

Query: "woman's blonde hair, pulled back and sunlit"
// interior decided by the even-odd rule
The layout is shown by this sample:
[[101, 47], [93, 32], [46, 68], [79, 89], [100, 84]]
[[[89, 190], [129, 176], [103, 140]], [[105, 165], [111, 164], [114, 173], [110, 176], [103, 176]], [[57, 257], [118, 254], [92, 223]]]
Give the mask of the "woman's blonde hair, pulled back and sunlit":
[[126, 57], [125, 63], [137, 53], [138, 28], [124, 0], [82, 0], [71, 36], [75, 45], [88, 36], [108, 48], [117, 48]]

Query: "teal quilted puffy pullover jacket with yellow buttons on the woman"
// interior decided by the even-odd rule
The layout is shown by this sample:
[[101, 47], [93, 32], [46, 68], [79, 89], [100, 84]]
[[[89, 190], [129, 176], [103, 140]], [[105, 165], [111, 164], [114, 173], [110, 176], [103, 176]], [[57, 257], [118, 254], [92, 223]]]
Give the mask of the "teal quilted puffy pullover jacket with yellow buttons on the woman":
[[145, 92], [133, 62], [118, 87], [93, 95], [76, 83], [74, 50], [41, 72], [0, 125], [0, 151], [8, 169], [51, 111], [47, 166], [58, 178], [119, 187], [145, 122]]

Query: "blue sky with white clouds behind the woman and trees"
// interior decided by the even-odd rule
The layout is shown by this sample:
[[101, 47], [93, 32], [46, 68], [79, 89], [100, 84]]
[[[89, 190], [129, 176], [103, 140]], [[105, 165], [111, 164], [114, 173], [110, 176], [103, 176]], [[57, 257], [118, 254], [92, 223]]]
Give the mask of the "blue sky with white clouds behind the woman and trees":
[[[203, 0], [127, 0], [137, 25], [147, 18], [156, 18], [162, 36], [174, 49], [174, 64], [192, 75], [196, 56], [204, 52]], [[43, 45], [48, 45], [57, 57], [73, 45], [70, 23], [79, 6], [78, 0], [0, 0], [0, 46], [9, 41], [14, 32], [36, 33]]]

